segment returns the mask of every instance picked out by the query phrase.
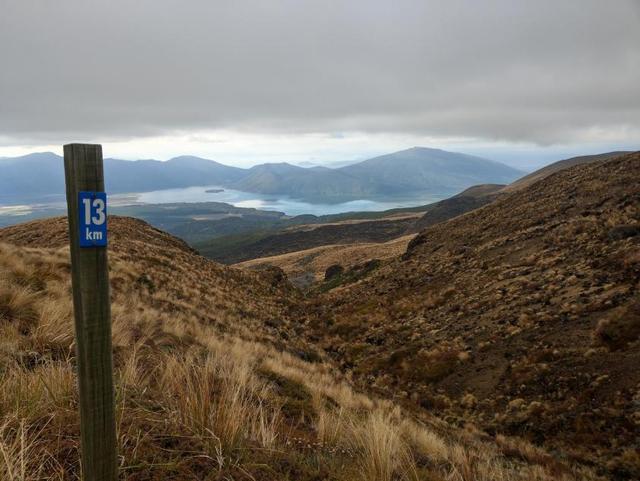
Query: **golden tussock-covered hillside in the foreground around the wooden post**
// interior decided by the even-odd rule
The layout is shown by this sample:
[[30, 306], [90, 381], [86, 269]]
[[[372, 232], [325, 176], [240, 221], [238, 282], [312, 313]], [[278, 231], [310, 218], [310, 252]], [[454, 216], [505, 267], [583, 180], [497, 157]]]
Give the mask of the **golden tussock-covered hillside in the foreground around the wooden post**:
[[[302, 339], [277, 273], [212, 263], [110, 218], [123, 480], [595, 480], [522, 440], [356, 392]], [[0, 479], [74, 480], [64, 219], [0, 230]]]

